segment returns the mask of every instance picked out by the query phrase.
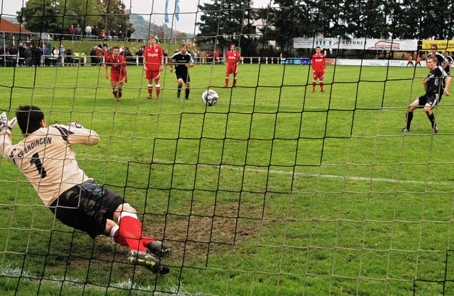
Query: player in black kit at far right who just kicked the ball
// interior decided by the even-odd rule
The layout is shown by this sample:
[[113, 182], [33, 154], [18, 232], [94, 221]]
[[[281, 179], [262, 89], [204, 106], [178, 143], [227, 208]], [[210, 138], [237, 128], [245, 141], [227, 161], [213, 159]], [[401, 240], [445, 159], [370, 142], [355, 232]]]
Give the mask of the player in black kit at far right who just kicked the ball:
[[426, 65], [430, 73], [426, 78], [423, 78], [423, 86], [426, 93], [419, 98], [416, 98], [413, 103], [410, 104], [409, 110], [406, 113], [406, 127], [402, 129], [402, 132], [409, 132], [411, 120], [413, 119], [413, 111], [416, 108], [424, 108], [428, 120], [431, 121], [432, 129], [434, 133], [438, 132], [438, 127], [435, 123], [435, 115], [432, 109], [435, 108], [441, 101], [441, 96], [449, 96], [449, 86], [451, 84], [451, 76], [446, 74], [442, 66], [437, 66], [438, 59], [435, 55], [427, 57]]

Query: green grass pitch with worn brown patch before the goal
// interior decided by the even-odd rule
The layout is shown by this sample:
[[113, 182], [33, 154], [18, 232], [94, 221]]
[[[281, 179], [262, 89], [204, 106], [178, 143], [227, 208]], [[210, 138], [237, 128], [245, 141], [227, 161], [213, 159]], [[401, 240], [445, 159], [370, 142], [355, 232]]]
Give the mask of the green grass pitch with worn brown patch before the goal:
[[326, 93], [308, 73], [243, 64], [223, 89], [224, 66], [196, 65], [190, 100], [167, 71], [156, 101], [128, 67], [115, 103], [99, 67], [1, 68], [0, 109], [96, 130], [79, 166], [173, 251], [165, 276], [129, 265], [127, 249], [55, 221], [2, 159], [2, 295], [454, 295], [451, 98], [437, 135], [422, 110], [404, 134], [426, 69], [331, 66]]

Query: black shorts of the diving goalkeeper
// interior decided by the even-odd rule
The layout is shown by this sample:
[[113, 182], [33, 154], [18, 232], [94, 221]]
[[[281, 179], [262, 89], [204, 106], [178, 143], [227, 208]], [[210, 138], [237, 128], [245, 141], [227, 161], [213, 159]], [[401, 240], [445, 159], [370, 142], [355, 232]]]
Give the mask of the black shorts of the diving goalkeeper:
[[120, 195], [89, 180], [60, 194], [49, 209], [67, 226], [87, 232], [93, 239], [106, 230], [119, 205], [126, 203]]

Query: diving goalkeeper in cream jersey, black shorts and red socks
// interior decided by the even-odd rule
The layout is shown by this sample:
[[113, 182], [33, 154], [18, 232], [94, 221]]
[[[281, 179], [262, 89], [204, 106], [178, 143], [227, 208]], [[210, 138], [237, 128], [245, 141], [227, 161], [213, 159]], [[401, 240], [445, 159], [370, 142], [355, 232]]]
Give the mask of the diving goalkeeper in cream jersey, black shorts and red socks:
[[[161, 257], [170, 254], [170, 247], [143, 236], [135, 209], [79, 168], [72, 145], [98, 144], [99, 135], [79, 123], [48, 127], [43, 111], [36, 106], [20, 106], [16, 118], [9, 121], [6, 113], [0, 115], [0, 153], [18, 166], [55, 217], [92, 239], [106, 234], [128, 247], [132, 264], [169, 273]], [[13, 145], [11, 130], [16, 123], [25, 138]]]

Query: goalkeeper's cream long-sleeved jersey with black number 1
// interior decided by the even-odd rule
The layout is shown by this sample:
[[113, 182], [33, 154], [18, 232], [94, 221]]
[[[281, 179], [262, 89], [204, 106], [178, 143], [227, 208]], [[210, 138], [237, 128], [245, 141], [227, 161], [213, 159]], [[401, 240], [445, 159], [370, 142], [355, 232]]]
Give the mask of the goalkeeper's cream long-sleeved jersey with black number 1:
[[96, 132], [79, 124], [43, 127], [16, 145], [8, 129], [0, 132], [1, 155], [18, 166], [46, 206], [65, 190], [91, 179], [79, 169], [71, 145], [98, 142]]

